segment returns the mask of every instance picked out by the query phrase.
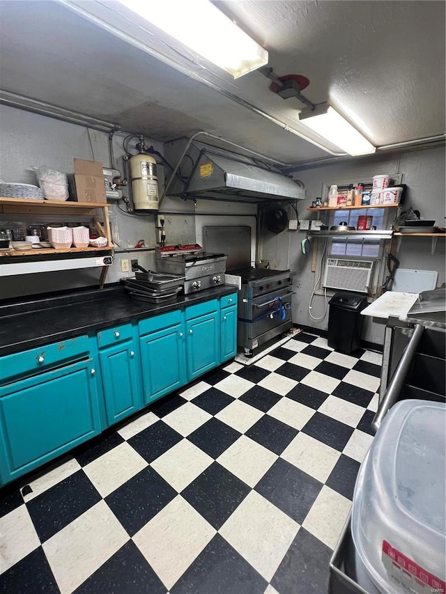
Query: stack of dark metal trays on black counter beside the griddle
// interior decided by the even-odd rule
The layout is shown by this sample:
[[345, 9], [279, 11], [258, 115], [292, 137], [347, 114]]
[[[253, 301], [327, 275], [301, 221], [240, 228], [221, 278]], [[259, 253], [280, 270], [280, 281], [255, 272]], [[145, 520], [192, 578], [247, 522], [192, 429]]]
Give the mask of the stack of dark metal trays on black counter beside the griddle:
[[176, 274], [150, 274], [151, 280], [140, 280], [135, 277], [124, 279], [125, 290], [130, 292], [132, 299], [153, 304], [163, 304], [175, 301], [178, 292], [183, 289], [184, 276]]

